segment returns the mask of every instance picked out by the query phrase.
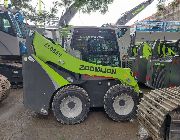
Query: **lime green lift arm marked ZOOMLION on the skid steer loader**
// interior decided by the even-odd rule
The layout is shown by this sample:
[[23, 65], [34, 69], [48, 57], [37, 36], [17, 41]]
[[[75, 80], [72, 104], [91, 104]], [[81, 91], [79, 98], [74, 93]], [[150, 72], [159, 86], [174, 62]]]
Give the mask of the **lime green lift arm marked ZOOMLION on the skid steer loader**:
[[[136, 92], [139, 92], [138, 84], [131, 75], [130, 69], [102, 66], [82, 61], [65, 52], [59, 44], [54, 44], [37, 32], [34, 35], [33, 46], [36, 53], [34, 58], [44, 66], [47, 65], [46, 62], [51, 62], [74, 73], [118, 79], [121, 83], [129, 85]], [[55, 82], [58, 84], [58, 81], [55, 80]]]

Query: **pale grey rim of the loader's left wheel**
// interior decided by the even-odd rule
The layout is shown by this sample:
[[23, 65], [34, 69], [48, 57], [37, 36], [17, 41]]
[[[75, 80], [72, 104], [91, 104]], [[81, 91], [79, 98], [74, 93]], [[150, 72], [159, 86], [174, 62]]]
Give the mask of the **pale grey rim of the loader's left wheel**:
[[60, 111], [67, 118], [75, 118], [82, 112], [82, 101], [78, 97], [68, 96], [62, 100]]

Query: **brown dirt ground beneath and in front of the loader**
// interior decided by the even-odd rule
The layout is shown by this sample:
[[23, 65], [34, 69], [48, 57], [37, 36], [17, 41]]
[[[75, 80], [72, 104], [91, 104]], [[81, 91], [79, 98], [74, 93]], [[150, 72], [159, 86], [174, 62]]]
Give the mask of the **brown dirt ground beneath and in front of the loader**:
[[22, 90], [0, 103], [0, 140], [137, 140], [138, 123], [114, 122], [103, 110], [91, 111], [78, 125], [62, 125], [52, 113], [38, 116], [23, 105]]

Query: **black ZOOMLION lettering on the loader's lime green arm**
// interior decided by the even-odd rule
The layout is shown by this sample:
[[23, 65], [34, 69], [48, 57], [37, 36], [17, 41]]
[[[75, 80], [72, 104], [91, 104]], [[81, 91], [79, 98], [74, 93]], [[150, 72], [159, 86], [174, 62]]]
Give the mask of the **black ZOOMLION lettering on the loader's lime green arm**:
[[107, 69], [107, 68], [102, 68], [98, 66], [94, 67], [94, 66], [80, 65], [79, 70], [89, 70], [89, 71], [94, 71], [94, 72], [116, 74], [116, 69]]

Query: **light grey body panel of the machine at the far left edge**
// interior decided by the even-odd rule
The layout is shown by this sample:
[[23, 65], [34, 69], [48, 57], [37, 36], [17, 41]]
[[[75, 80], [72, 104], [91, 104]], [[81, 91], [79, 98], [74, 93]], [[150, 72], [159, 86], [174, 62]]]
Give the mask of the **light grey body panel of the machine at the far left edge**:
[[0, 55], [20, 55], [18, 38], [0, 31]]

